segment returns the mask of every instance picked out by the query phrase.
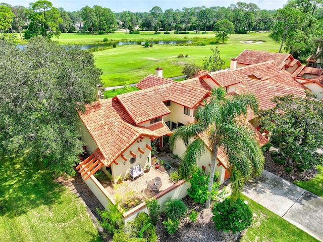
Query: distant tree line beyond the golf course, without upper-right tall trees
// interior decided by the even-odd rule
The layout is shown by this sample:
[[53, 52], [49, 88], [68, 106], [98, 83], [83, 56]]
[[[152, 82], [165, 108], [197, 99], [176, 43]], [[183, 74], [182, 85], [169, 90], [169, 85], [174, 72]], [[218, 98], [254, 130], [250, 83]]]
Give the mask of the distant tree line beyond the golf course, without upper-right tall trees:
[[[167, 9], [163, 11], [155, 6], [149, 12], [123, 11], [114, 13], [109, 8], [94, 5], [83, 7], [79, 11], [68, 12], [63, 8], [55, 8], [48, 1], [37, 1], [28, 8], [23, 6], [11, 6], [2, 3], [0, 9], [0, 21], [7, 22], [0, 25], [0, 30], [5, 32], [15, 31], [21, 33], [30, 29], [36, 19], [46, 16], [48, 21], [54, 20], [58, 25], [57, 31], [74, 32], [75, 25], [81, 31], [92, 33], [109, 33], [117, 28], [126, 30], [177, 30], [177, 31], [212, 31], [216, 23], [221, 20], [229, 20], [234, 25], [234, 33], [246, 33], [250, 30], [270, 30], [274, 25], [275, 10], [260, 10], [255, 4], [240, 3], [231, 4], [229, 7], [205, 6], [183, 8], [182, 10]], [[6, 8], [6, 10], [5, 10]], [[1, 15], [11, 12], [11, 18], [3, 20]], [[47, 13], [47, 14], [46, 14]], [[37, 21], [36, 21], [37, 22]], [[54, 28], [54, 26], [49, 26]]]

